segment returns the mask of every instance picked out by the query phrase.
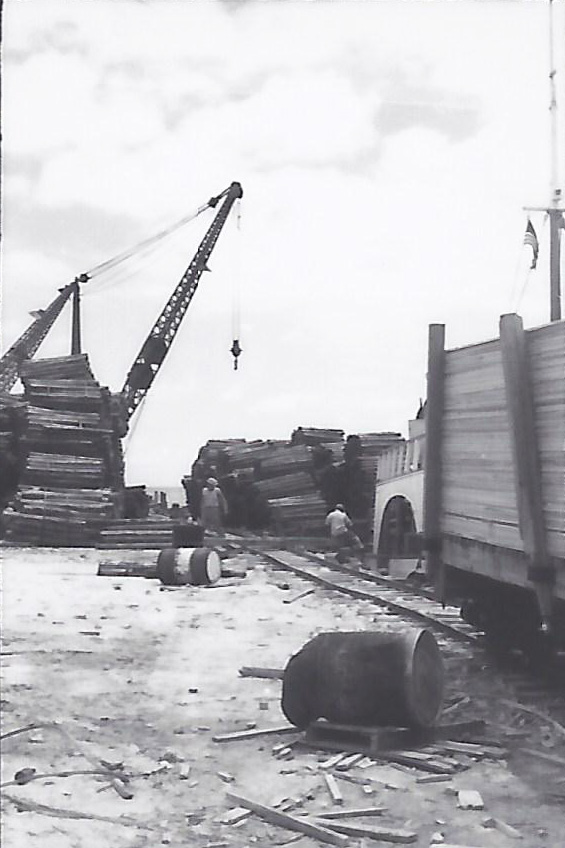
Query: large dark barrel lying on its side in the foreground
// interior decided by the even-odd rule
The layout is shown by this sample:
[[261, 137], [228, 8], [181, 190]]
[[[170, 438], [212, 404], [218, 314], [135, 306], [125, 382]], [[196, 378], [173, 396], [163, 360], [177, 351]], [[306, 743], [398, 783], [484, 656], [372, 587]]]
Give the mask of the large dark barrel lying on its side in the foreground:
[[428, 630], [320, 633], [290, 658], [281, 706], [300, 728], [317, 718], [365, 727], [431, 727], [443, 691], [443, 660]]

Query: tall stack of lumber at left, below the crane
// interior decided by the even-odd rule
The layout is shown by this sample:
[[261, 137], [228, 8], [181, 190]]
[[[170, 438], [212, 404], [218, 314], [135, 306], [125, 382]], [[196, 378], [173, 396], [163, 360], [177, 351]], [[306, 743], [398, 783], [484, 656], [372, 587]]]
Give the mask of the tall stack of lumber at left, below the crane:
[[85, 354], [22, 365], [25, 465], [5, 513], [9, 541], [90, 546], [123, 499], [125, 417]]

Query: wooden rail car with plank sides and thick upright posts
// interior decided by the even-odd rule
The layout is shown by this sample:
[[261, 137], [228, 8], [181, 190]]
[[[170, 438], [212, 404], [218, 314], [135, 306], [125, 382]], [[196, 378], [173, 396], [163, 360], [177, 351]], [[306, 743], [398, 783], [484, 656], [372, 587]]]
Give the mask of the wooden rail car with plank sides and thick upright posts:
[[444, 337], [430, 327], [423, 475], [437, 596], [499, 640], [565, 646], [565, 322]]

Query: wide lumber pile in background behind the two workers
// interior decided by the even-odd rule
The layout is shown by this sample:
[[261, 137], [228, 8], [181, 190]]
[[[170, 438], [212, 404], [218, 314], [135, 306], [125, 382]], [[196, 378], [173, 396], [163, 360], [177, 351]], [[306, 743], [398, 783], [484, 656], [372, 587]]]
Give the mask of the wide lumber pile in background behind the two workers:
[[328, 510], [342, 502], [367, 536], [378, 456], [401, 436], [344, 436], [338, 429], [297, 427], [289, 440], [207, 442], [192, 466], [193, 516], [199, 516], [202, 487], [212, 476], [226, 496], [233, 529], [325, 535]]

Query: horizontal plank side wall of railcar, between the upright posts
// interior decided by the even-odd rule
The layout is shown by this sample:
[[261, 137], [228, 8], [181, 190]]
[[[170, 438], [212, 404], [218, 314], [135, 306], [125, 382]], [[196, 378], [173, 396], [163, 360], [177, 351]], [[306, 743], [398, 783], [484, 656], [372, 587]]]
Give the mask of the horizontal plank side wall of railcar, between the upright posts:
[[[524, 337], [546, 546], [557, 566], [555, 592], [565, 597], [565, 322], [528, 330]], [[502, 548], [497, 579], [531, 585], [500, 339], [446, 351], [443, 377], [443, 561], [489, 573], [477, 552], [488, 549], [494, 562]]]

